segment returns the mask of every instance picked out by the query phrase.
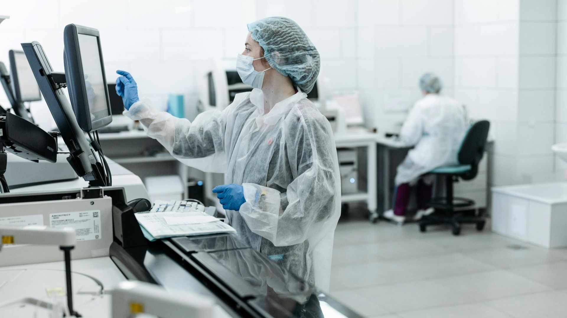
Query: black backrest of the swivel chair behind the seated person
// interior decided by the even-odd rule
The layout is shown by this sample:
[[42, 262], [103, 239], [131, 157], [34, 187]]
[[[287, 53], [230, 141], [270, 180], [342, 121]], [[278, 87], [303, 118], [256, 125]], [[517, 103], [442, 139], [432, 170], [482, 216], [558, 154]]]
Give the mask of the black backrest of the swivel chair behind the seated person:
[[478, 166], [484, 155], [489, 128], [489, 121], [478, 121], [469, 128], [463, 139], [457, 158], [460, 164], [471, 165], [471, 171], [462, 177], [465, 180], [475, 178], [479, 171]]

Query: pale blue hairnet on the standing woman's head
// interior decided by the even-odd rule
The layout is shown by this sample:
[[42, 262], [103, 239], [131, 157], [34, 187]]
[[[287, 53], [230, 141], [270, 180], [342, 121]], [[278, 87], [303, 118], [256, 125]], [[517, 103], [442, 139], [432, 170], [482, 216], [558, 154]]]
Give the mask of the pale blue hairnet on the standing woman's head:
[[269, 65], [305, 93], [311, 92], [321, 68], [321, 58], [305, 32], [293, 20], [273, 16], [248, 24], [252, 38], [264, 49]]

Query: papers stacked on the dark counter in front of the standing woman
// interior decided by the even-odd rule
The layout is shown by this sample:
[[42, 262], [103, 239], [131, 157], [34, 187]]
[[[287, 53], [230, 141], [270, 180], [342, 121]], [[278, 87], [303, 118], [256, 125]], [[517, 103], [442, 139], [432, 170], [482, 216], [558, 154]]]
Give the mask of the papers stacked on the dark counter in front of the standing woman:
[[184, 212], [138, 212], [134, 214], [149, 240], [187, 235], [236, 233], [232, 226], [197, 209]]

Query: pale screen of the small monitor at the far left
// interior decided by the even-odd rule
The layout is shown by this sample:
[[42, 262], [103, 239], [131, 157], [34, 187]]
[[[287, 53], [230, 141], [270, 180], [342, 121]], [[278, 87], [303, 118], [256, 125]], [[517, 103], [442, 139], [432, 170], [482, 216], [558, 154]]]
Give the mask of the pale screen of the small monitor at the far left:
[[[39, 101], [41, 92], [39, 85], [33, 76], [32, 68], [29, 67], [28, 59], [23, 51], [12, 51], [14, 54], [13, 65], [10, 65], [12, 72], [12, 91], [16, 101]], [[11, 61], [12, 62], [12, 61]]]

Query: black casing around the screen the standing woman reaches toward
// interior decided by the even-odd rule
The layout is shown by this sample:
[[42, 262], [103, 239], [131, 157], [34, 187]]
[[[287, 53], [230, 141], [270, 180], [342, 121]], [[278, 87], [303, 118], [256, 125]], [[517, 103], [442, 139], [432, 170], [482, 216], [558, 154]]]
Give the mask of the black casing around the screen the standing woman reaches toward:
[[[103, 72], [104, 92], [107, 100], [108, 116], [91, 121], [90, 108], [87, 100], [87, 89], [84, 85], [84, 72], [81, 59], [81, 48], [79, 46], [79, 34], [95, 36], [98, 43], [101, 71]], [[64, 30], [65, 44], [65, 76], [67, 79], [67, 89], [75, 117], [79, 127], [83, 131], [90, 132], [98, 130], [112, 122], [112, 109], [108, 97], [108, 85], [104, 70], [104, 58], [100, 45], [100, 33], [97, 29], [83, 27], [82, 25], [68, 24]]]

